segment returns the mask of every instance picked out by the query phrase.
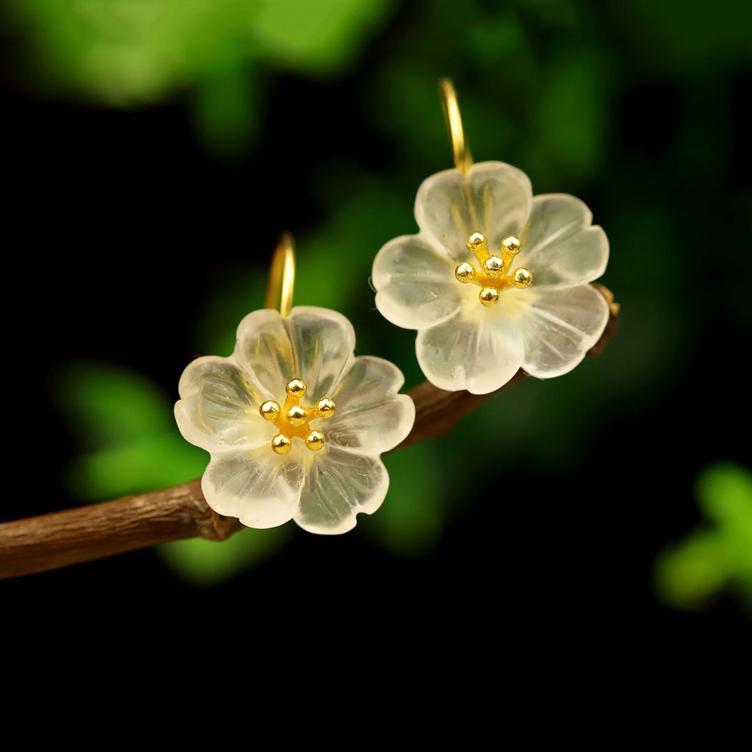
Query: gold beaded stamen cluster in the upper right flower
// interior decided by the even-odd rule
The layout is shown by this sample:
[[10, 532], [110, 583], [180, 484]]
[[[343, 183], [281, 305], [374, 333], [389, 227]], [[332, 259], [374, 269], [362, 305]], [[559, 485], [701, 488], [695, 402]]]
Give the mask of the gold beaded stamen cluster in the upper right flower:
[[524, 266], [517, 267], [514, 271], [505, 271], [511, 268], [512, 259], [520, 253], [522, 244], [520, 238], [515, 235], [507, 235], [502, 240], [502, 255], [496, 256], [488, 252], [488, 241], [480, 232], [473, 232], [467, 239], [468, 250], [472, 250], [481, 265], [478, 271], [471, 263], [463, 261], [454, 270], [454, 276], [462, 283], [475, 282], [481, 287], [478, 299], [483, 305], [490, 308], [499, 302], [499, 295], [507, 287], [517, 287], [524, 290], [532, 282], [532, 271]]

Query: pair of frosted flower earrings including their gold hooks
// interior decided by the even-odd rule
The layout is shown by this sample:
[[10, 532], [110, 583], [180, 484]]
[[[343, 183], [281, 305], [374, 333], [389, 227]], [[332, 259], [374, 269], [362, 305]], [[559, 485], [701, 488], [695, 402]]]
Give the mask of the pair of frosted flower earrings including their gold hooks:
[[[423, 181], [417, 235], [374, 259], [378, 311], [416, 329], [417, 359], [443, 390], [490, 393], [519, 368], [564, 374], [593, 347], [609, 308], [590, 282], [608, 240], [574, 196], [532, 196], [529, 178], [504, 162], [473, 164], [456, 92], [441, 81], [455, 167]], [[194, 360], [175, 405], [183, 437], [207, 450], [208, 504], [250, 527], [290, 519], [336, 534], [376, 511], [389, 476], [381, 454], [415, 419], [393, 363], [358, 356], [336, 311], [292, 307], [293, 241], [274, 252], [265, 308], [238, 326], [231, 356]], [[296, 441], [297, 439], [297, 441]]]

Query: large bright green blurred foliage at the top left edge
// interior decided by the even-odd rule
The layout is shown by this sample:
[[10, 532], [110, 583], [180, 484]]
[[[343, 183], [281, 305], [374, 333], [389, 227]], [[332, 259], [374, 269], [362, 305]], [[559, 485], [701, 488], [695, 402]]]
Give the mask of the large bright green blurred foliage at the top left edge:
[[[233, 156], [253, 137], [256, 62], [332, 73], [362, 50], [392, 0], [14, 0], [29, 83], [102, 105], [196, 92], [211, 150]], [[35, 69], [36, 68], [36, 69]]]

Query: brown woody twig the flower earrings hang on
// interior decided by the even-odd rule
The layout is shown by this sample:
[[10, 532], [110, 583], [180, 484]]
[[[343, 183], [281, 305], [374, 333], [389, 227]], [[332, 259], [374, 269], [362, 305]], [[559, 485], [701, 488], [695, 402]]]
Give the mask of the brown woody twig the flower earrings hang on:
[[[599, 355], [616, 332], [619, 305], [602, 285], [595, 287], [611, 308], [611, 318], [598, 344], [587, 353]], [[497, 392], [444, 392], [426, 382], [410, 396], [415, 424], [408, 438], [393, 451], [416, 441], [443, 436], [487, 399], [526, 377], [520, 369]], [[222, 517], [205, 502], [200, 481], [129, 496], [111, 502], [66, 509], [0, 525], [0, 579], [31, 575], [47, 569], [102, 559], [167, 541], [200, 536], [223, 541], [242, 528], [238, 520]]]

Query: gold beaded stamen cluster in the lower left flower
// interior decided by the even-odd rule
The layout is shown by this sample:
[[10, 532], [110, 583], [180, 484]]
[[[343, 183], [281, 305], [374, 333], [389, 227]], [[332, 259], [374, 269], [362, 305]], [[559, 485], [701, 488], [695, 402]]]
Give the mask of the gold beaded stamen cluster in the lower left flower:
[[300, 401], [305, 397], [308, 387], [305, 381], [293, 378], [287, 382], [287, 399], [284, 406], [274, 399], [264, 402], [259, 408], [259, 413], [264, 420], [274, 423], [279, 433], [271, 439], [271, 448], [277, 454], [286, 454], [293, 446], [293, 438], [296, 436], [305, 441], [305, 445], [312, 452], [317, 452], [324, 445], [324, 435], [320, 431], [311, 429], [308, 424], [318, 418], [330, 418], [334, 415], [336, 405], [333, 399], [322, 397], [312, 408], [304, 408]]

